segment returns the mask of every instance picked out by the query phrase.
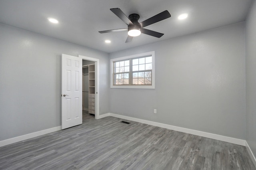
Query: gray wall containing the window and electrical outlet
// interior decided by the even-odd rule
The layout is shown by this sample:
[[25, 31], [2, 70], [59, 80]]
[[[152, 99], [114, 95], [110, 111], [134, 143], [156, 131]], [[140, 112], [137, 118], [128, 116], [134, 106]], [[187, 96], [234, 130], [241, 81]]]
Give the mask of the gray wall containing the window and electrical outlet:
[[110, 112], [245, 139], [244, 27], [241, 22], [110, 53], [155, 51], [156, 60], [156, 89], [110, 89]]

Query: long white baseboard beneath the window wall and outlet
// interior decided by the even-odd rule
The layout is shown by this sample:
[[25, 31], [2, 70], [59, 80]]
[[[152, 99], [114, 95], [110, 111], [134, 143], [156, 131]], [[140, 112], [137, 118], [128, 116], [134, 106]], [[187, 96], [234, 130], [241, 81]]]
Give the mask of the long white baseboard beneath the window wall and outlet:
[[221, 141], [229, 142], [229, 143], [233, 143], [233, 144], [239, 144], [239, 145], [242, 145], [242, 146], [245, 146], [245, 142], [246, 142], [246, 140], [242, 140], [242, 139], [238, 139], [238, 138], [231, 138], [231, 137], [222, 136], [222, 135], [213, 134], [213, 133], [208, 133], [208, 132], [202, 132], [202, 131], [199, 131], [199, 130], [192, 130], [192, 129], [188, 129], [188, 128], [176, 127], [176, 126], [172, 126], [172, 125], [166, 125], [166, 124], [163, 124], [163, 123], [146, 121], [146, 120], [143, 120], [143, 119], [137, 119], [137, 118], [118, 115], [118, 114], [114, 114], [114, 113], [108, 113], [108, 114], [112, 117], [118, 117], [118, 118], [126, 119], [126, 120], [129, 120], [129, 121], [144, 123], [144, 124], [152, 125], [152, 126], [156, 126], [156, 127], [167, 128], [167, 129], [170, 129], [170, 130], [176, 130], [176, 131], [179, 131], [179, 132], [194, 134], [194, 135], [197, 135], [197, 136], [202, 136], [202, 137], [206, 137], [206, 138], [221, 140]]

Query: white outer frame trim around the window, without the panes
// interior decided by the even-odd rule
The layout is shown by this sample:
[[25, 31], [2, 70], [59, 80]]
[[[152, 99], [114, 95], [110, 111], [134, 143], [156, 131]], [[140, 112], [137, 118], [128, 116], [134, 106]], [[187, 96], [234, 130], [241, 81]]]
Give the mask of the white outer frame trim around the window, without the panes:
[[[140, 57], [147, 57], [152, 56], [152, 84], [151, 85], [113, 85], [113, 74], [114, 74], [114, 62], [121, 61], [126, 59], [132, 58], [140, 58]], [[120, 88], [120, 89], [155, 89], [155, 51], [150, 51], [146, 53], [140, 53], [135, 55], [129, 55], [125, 57], [119, 57], [110, 59], [110, 88]]]

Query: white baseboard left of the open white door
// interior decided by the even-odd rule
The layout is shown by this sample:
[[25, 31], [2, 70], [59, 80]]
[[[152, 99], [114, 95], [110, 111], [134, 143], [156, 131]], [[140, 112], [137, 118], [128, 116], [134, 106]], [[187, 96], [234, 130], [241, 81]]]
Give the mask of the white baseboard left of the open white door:
[[33, 133], [29, 133], [29, 134], [24, 134], [22, 136], [17, 136], [17, 137], [14, 137], [14, 138], [2, 140], [2, 141], [0, 141], [0, 147], [8, 145], [8, 144], [15, 143], [15, 142], [20, 142], [22, 140], [27, 140], [27, 139], [34, 138], [34, 137], [37, 137], [37, 136], [41, 136], [43, 134], [55, 132], [55, 131], [58, 131], [58, 130], [61, 130], [61, 126], [54, 127], [54, 128], [48, 128], [48, 129], [41, 130], [41, 131], [38, 131], [38, 132], [33, 132]]

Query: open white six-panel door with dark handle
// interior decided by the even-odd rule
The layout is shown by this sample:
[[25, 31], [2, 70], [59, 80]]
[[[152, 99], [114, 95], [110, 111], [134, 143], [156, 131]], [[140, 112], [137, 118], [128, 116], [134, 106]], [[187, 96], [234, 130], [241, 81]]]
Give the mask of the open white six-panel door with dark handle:
[[62, 54], [62, 129], [82, 124], [82, 58]]

